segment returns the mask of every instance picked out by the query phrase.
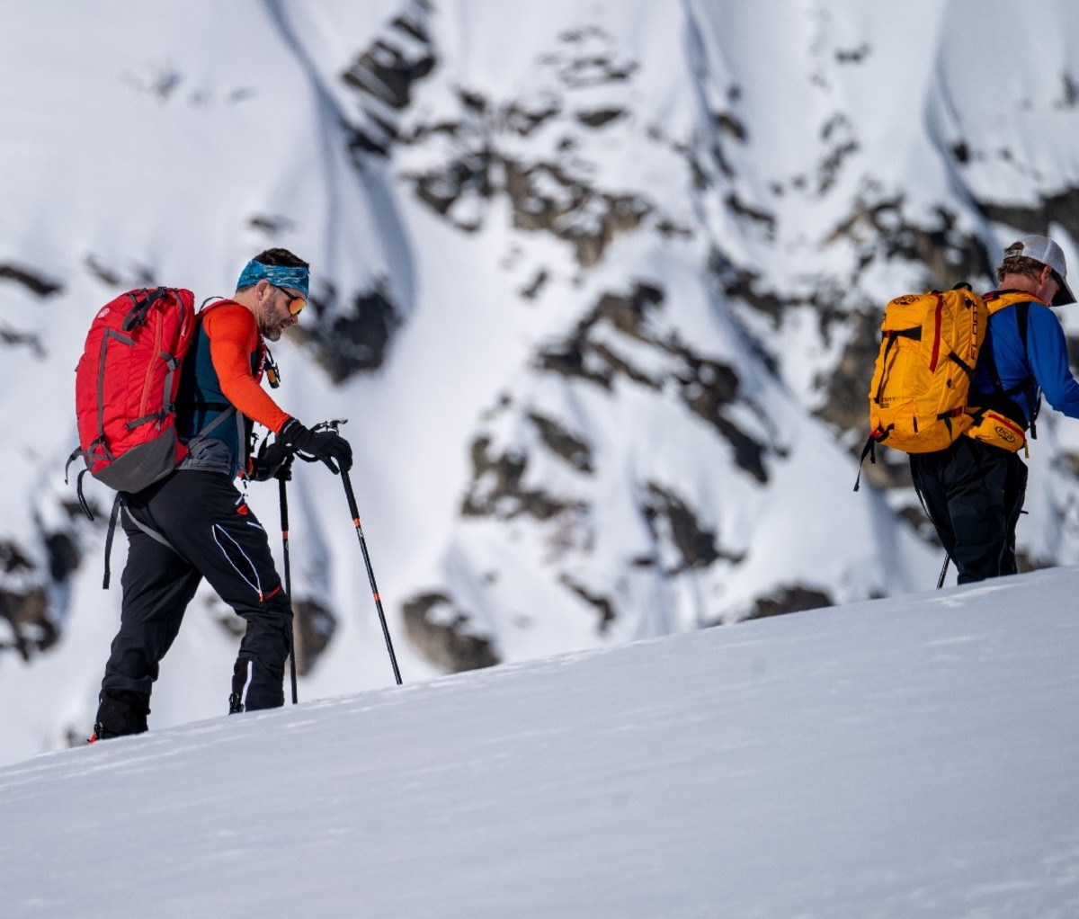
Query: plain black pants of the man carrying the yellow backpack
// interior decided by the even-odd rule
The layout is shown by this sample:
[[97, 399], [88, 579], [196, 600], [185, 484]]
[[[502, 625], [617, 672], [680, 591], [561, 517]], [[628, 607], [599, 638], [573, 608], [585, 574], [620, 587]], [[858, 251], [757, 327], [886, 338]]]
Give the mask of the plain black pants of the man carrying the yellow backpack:
[[911, 475], [959, 584], [1015, 574], [1027, 478], [1017, 453], [960, 437], [945, 450], [911, 454]]

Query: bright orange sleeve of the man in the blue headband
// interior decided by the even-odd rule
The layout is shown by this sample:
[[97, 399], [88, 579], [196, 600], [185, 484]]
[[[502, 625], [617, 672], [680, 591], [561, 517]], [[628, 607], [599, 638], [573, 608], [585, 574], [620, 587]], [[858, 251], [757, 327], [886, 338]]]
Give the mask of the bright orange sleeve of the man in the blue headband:
[[291, 417], [270, 398], [251, 373], [251, 354], [259, 346], [255, 315], [240, 303], [222, 303], [203, 319], [209, 356], [224, 397], [236, 411], [279, 434]]

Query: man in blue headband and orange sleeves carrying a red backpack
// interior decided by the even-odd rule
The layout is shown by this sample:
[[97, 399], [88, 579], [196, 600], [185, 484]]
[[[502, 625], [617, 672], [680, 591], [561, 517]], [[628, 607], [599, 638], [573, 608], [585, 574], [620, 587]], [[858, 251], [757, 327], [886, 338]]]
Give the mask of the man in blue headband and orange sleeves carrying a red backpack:
[[[86, 366], [80, 364], [77, 376], [80, 453], [92, 475], [119, 490], [118, 509], [128, 539], [120, 629], [106, 663], [92, 740], [147, 729], [159, 663], [204, 577], [246, 621], [229, 711], [284, 703], [291, 601], [277, 575], [267, 533], [234, 480], [240, 476], [264, 481], [287, 475], [296, 452], [322, 460], [334, 472], [352, 466], [352, 448], [336, 430], [304, 427], [261, 387], [263, 374], [275, 371], [272, 364], [268, 366], [265, 340], [277, 341], [299, 321], [309, 272], [309, 264], [288, 250], [269, 249], [247, 263], [233, 297], [204, 307], [192, 317], [190, 328], [183, 312], [190, 303], [188, 291], [133, 291], [127, 297], [135, 305], [122, 330], [106, 329], [96, 338], [92, 333], [93, 343], [87, 341]], [[175, 334], [178, 353], [160, 347], [161, 304], [166, 301], [176, 307], [174, 315], [178, 312], [182, 317]], [[98, 314], [99, 320], [109, 320], [108, 310]], [[158, 323], [154, 332], [148, 323], [151, 312]], [[126, 388], [141, 389], [145, 408], [148, 395], [152, 402], [163, 385], [164, 404], [115, 425], [120, 433], [110, 438], [109, 408], [122, 400], [110, 397], [109, 348], [119, 353], [140, 339], [152, 340], [151, 351], [158, 347], [164, 360], [164, 383], [147, 369], [140, 386]], [[268, 375], [273, 382], [273, 375]], [[96, 392], [91, 398], [85, 390], [95, 385], [95, 376]], [[123, 384], [113, 385], [123, 388]], [[127, 414], [139, 411], [129, 409]], [[251, 457], [256, 422], [276, 438]], [[114, 444], [132, 431], [139, 437], [138, 431], [148, 427], [152, 436], [141, 436], [142, 445], [121, 455]], [[147, 472], [150, 465], [153, 468]], [[138, 475], [131, 475], [136, 467]], [[115, 476], [112, 481], [110, 474]], [[148, 479], [152, 480], [145, 484]], [[125, 484], [133, 482], [139, 488], [128, 491]]]

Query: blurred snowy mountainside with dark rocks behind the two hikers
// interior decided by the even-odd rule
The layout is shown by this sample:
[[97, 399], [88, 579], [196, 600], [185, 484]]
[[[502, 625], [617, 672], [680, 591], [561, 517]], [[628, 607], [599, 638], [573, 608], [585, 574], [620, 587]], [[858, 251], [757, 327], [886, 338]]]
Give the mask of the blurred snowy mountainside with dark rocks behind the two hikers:
[[[277, 396], [349, 419], [410, 682], [931, 585], [902, 457], [851, 492], [882, 304], [988, 287], [1020, 232], [1079, 265], [1064, 0], [9, 12], [8, 759], [84, 736], [115, 628], [63, 465], [82, 337], [128, 287], [312, 261]], [[1030, 463], [1024, 564], [1075, 563], [1079, 428], [1047, 412]], [[340, 483], [300, 470], [290, 510], [301, 698], [392, 682]], [[200, 594], [154, 726], [221, 711], [235, 628]]]

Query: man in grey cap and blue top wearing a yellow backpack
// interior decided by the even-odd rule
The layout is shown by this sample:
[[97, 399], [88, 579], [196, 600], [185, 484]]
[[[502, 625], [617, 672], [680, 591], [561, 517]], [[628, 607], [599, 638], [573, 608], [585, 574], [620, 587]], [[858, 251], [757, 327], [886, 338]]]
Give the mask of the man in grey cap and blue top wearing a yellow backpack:
[[1076, 302], [1064, 252], [1048, 236], [1022, 236], [996, 273], [999, 289], [984, 297], [962, 285], [888, 303], [869, 394], [862, 460], [875, 461], [877, 443], [911, 454], [959, 584], [1016, 571], [1027, 479], [1019, 452], [1027, 430], [1035, 436], [1040, 396], [1079, 419], [1079, 383], [1049, 308]]

